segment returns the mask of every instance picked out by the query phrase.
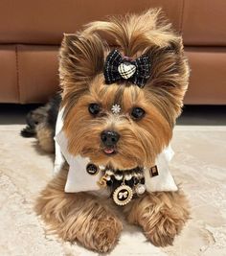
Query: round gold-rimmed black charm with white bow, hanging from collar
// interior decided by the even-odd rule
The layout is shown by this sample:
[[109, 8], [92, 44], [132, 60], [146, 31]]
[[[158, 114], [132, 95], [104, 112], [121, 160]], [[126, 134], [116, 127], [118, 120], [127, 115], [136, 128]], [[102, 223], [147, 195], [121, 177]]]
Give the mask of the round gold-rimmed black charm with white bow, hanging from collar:
[[118, 205], [127, 204], [133, 197], [132, 189], [127, 185], [118, 187], [113, 193], [113, 200]]

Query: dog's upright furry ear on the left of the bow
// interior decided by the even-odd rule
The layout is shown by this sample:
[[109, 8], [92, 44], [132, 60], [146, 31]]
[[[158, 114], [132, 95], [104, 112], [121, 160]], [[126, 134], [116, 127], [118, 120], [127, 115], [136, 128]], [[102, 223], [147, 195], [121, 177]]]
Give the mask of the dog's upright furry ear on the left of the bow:
[[102, 72], [104, 46], [99, 35], [64, 35], [59, 51], [59, 79], [64, 96], [79, 97]]

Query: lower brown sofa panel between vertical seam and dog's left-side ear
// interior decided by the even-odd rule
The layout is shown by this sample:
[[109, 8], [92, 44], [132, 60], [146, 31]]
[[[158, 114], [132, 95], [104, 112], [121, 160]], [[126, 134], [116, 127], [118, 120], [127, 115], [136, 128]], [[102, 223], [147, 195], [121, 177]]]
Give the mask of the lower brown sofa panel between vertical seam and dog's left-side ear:
[[19, 103], [48, 101], [59, 89], [57, 46], [17, 46]]

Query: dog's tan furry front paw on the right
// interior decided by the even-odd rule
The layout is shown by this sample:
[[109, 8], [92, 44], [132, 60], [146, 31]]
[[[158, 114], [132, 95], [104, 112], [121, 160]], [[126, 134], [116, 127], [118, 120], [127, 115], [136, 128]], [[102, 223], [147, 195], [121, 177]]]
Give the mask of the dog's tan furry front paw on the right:
[[156, 246], [173, 243], [190, 216], [187, 198], [181, 192], [158, 192], [134, 203], [128, 220], [140, 224]]

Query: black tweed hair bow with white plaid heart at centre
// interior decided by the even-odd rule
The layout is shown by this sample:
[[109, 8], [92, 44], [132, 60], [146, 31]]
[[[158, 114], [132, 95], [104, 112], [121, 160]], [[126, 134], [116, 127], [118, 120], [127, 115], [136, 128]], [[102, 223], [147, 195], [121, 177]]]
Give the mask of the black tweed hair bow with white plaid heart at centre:
[[130, 60], [123, 57], [118, 50], [113, 50], [106, 58], [103, 75], [106, 84], [125, 80], [144, 87], [150, 77], [150, 59], [143, 55]]

